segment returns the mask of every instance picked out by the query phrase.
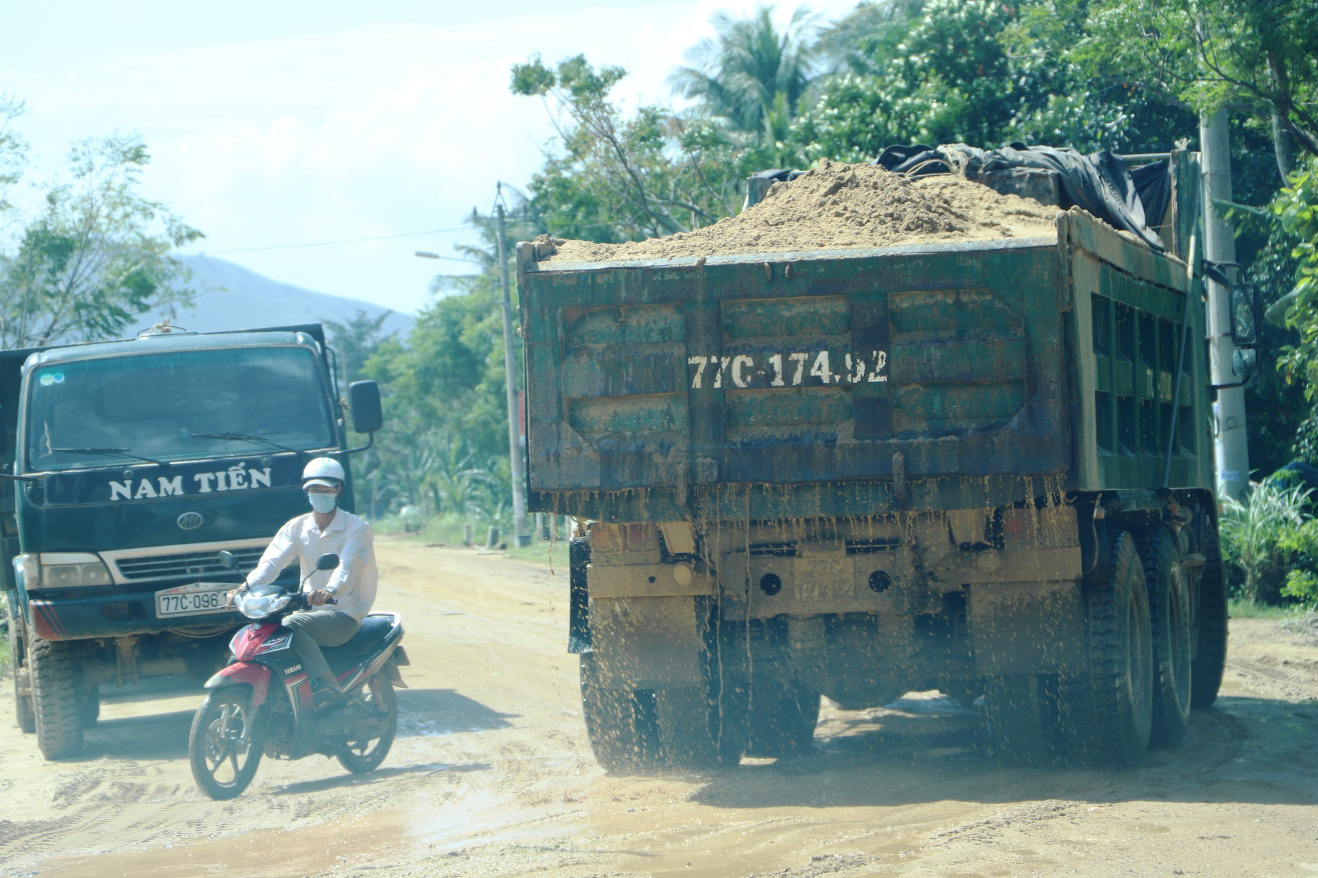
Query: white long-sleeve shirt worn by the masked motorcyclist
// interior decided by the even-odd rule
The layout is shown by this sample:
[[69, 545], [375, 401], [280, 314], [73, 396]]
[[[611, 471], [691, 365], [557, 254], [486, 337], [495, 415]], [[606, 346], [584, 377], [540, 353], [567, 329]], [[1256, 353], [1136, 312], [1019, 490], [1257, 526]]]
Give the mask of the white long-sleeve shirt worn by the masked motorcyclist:
[[[333, 570], [316, 570], [316, 558], [323, 554], [339, 555]], [[316, 528], [315, 515], [307, 512], [290, 520], [266, 546], [256, 570], [248, 575], [248, 586], [274, 582], [279, 571], [294, 558], [301, 561], [301, 578], [307, 579], [303, 591], [324, 588], [333, 594], [336, 604], [322, 604], [311, 609], [337, 609], [361, 621], [376, 602], [376, 545], [370, 525], [343, 509], [335, 509], [333, 519], [324, 530]]]

